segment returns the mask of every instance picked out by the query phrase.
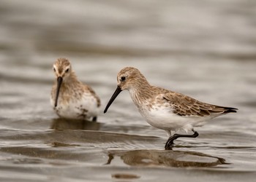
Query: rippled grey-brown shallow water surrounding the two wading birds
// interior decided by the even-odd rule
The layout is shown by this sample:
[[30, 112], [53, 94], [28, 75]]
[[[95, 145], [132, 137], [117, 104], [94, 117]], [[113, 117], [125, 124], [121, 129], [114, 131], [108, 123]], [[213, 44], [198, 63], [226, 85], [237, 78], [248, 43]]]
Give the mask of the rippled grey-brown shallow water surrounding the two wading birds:
[[[255, 1], [0, 1], [1, 181], [254, 181]], [[121, 92], [98, 122], [58, 119], [67, 57], [102, 99], [134, 66], [151, 84], [238, 108], [163, 149]]]

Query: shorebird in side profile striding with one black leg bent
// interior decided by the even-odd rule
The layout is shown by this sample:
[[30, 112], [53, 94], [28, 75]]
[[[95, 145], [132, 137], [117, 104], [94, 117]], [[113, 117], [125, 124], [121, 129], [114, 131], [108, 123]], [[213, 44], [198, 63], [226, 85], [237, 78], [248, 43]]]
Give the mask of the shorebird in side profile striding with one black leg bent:
[[[117, 82], [116, 91], [108, 101], [104, 113], [108, 111], [109, 106], [121, 91], [128, 90], [133, 103], [148, 124], [167, 132], [169, 138], [165, 143], [165, 149], [171, 149], [173, 141], [177, 138], [196, 138], [198, 132], [194, 127], [201, 127], [214, 117], [236, 113], [237, 110], [237, 108], [203, 103], [178, 92], [154, 87], [137, 68], [123, 68], [117, 75]], [[193, 134], [171, 135], [171, 132], [178, 130], [193, 132]]]

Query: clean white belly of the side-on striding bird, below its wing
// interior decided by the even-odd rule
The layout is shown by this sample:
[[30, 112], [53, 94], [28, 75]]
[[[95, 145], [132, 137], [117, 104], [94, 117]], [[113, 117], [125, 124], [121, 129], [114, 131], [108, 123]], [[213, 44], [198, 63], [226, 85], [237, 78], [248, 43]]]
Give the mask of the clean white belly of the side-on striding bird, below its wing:
[[200, 127], [205, 124], [209, 118], [199, 116], [179, 116], [174, 114], [170, 108], [153, 107], [150, 110], [140, 109], [148, 124], [162, 130], [192, 130], [193, 127]]

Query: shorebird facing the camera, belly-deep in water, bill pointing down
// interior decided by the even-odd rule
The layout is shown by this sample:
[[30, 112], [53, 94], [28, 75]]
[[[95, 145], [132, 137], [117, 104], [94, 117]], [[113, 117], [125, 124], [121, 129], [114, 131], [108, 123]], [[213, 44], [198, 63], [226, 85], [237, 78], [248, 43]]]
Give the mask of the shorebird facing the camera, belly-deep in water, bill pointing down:
[[94, 90], [80, 82], [66, 58], [59, 58], [53, 64], [56, 80], [51, 90], [50, 103], [61, 118], [97, 120], [100, 106]]

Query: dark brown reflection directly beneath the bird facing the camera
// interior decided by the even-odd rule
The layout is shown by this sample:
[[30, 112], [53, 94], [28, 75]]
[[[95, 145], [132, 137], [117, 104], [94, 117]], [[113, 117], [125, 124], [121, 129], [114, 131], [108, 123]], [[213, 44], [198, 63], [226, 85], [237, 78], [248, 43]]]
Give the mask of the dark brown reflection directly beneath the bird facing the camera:
[[79, 119], [53, 119], [50, 129], [53, 130], [99, 130], [99, 122], [91, 122]]

